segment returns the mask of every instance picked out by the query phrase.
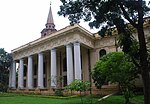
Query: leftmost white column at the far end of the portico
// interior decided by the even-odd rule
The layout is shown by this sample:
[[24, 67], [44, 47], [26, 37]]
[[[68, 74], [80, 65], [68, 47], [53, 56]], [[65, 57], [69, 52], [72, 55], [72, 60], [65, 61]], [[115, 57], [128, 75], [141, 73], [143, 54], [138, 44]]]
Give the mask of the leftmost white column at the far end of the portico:
[[12, 64], [12, 82], [11, 82], [11, 87], [13, 89], [16, 88], [16, 62], [13, 61], [13, 64]]

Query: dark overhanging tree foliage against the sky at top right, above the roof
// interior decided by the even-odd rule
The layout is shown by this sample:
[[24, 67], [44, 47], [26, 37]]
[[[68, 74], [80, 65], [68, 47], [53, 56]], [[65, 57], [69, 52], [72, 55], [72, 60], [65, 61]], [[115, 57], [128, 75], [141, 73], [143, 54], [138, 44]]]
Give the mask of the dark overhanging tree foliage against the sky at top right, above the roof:
[[[125, 27], [125, 19], [129, 22], [138, 21], [138, 9], [142, 5], [143, 15], [150, 9], [145, 0], [141, 4], [133, 0], [61, 0], [59, 15], [68, 16], [71, 24], [81, 19], [88, 22], [91, 28], [102, 28], [102, 35], [108, 28], [116, 25], [118, 30]], [[124, 11], [125, 10], [125, 11]]]

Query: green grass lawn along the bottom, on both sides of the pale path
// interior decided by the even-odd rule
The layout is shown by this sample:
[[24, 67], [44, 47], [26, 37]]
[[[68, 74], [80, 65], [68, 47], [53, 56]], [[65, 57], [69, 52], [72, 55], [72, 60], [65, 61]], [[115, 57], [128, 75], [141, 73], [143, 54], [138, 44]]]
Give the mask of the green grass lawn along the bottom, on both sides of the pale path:
[[[90, 97], [83, 97], [84, 104], [123, 104], [122, 96], [111, 96], [98, 103], [100, 97], [94, 97], [91, 103]], [[131, 101], [132, 104], [143, 104], [143, 96], [136, 96]], [[80, 97], [74, 98], [50, 98], [42, 95], [17, 95], [17, 94], [0, 94], [0, 104], [82, 104]]]

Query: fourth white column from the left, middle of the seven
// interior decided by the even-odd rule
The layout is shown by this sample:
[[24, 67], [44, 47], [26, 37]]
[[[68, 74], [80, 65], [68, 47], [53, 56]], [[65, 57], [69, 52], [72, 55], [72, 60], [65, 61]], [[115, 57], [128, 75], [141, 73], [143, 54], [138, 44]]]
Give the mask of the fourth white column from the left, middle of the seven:
[[38, 54], [38, 88], [44, 88], [43, 84], [43, 53]]

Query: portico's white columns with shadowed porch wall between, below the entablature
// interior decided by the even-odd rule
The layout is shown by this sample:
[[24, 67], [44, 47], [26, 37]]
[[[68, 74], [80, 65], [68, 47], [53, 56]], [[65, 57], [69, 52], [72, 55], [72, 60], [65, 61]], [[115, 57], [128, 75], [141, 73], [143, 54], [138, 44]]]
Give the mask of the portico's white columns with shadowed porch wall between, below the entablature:
[[[81, 47], [85, 48], [79, 41], [74, 41], [24, 57], [14, 54], [11, 88], [44, 89], [49, 86], [56, 88], [58, 77], [63, 77], [62, 86], [59, 87], [64, 87], [75, 79], [82, 79]], [[17, 62], [19, 62], [18, 82], [14, 80]]]

